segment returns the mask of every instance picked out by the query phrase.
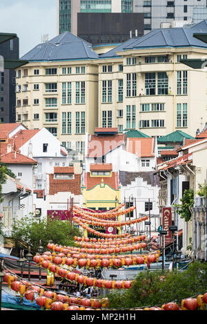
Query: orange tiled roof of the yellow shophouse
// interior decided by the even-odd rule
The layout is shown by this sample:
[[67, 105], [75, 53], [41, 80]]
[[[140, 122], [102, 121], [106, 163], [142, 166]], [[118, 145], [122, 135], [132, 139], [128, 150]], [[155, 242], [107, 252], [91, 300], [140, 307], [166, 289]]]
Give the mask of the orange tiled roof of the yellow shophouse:
[[111, 176], [90, 176], [90, 172], [85, 174], [85, 185], [86, 190], [90, 190], [95, 187], [95, 185], [101, 185], [101, 181], [104, 184], [110, 186], [114, 190], [119, 190], [119, 179], [117, 172], [112, 172]]

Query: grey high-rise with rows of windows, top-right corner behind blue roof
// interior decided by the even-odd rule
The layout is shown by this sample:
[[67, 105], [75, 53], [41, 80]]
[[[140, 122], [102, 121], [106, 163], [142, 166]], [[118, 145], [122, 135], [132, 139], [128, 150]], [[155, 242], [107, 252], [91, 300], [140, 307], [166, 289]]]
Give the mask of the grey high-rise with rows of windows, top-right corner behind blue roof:
[[161, 23], [192, 21], [193, 8], [206, 7], [206, 0], [135, 0], [135, 12], [144, 13], [145, 33]]

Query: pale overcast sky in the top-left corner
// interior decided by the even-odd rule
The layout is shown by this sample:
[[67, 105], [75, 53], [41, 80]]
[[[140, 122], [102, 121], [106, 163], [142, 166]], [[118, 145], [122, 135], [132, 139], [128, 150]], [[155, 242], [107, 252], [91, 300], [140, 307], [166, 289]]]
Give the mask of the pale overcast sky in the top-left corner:
[[0, 0], [0, 32], [13, 32], [19, 37], [20, 57], [57, 35], [57, 0]]

